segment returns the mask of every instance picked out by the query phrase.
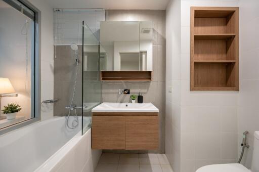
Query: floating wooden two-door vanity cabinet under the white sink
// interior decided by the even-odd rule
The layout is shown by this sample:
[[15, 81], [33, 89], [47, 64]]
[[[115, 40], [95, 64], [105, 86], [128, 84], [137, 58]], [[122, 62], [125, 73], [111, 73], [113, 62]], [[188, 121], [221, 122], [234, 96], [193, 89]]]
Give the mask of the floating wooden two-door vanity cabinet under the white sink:
[[158, 113], [94, 112], [93, 149], [158, 149]]

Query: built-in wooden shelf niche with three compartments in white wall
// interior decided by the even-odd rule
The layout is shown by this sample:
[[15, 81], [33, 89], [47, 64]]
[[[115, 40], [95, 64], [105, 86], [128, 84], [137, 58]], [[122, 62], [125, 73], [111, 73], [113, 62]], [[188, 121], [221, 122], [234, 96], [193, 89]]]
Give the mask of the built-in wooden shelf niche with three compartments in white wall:
[[238, 8], [191, 7], [191, 90], [238, 91]]

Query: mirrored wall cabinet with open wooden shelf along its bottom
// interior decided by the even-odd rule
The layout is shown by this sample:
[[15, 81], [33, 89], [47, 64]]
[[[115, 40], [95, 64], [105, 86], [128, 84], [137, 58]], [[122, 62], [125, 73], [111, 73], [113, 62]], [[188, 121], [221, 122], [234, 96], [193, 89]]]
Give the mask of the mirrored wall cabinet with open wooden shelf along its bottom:
[[152, 22], [101, 22], [100, 43], [101, 80], [151, 80]]

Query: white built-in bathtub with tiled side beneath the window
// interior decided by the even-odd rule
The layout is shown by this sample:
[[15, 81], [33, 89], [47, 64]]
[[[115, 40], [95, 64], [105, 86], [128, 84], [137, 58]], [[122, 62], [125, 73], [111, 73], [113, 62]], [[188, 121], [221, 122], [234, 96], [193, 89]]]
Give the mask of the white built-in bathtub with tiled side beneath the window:
[[[83, 117], [87, 127], [91, 117]], [[101, 152], [91, 149], [91, 128], [81, 135], [66, 117], [36, 122], [0, 136], [0, 171], [94, 171]]]

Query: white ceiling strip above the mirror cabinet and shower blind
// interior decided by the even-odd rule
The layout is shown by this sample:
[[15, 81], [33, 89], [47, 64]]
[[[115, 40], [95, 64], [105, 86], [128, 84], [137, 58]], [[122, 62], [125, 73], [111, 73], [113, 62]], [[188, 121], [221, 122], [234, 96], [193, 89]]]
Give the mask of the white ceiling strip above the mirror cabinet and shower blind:
[[169, 0], [47, 0], [60, 9], [165, 10]]

